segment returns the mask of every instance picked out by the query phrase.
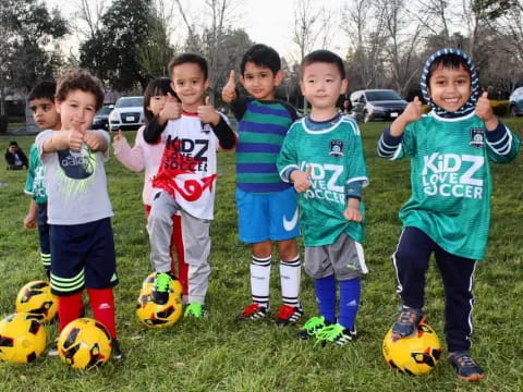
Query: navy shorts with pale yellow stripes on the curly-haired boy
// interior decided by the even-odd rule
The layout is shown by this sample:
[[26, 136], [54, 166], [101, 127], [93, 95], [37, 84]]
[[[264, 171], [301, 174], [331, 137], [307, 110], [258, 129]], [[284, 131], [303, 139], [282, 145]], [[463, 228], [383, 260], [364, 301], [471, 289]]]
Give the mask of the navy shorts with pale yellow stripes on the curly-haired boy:
[[51, 224], [51, 292], [72, 295], [84, 287], [118, 284], [111, 220], [83, 224]]

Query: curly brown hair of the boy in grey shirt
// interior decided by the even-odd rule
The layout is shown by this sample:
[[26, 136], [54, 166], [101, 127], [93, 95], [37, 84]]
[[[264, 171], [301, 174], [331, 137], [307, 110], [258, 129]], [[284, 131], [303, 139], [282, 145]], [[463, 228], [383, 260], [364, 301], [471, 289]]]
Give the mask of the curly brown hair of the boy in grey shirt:
[[101, 83], [86, 70], [68, 71], [60, 76], [57, 82], [56, 98], [59, 102], [63, 102], [68, 98], [69, 93], [77, 89], [84, 93], [92, 93], [95, 96], [96, 110], [104, 106], [105, 93]]

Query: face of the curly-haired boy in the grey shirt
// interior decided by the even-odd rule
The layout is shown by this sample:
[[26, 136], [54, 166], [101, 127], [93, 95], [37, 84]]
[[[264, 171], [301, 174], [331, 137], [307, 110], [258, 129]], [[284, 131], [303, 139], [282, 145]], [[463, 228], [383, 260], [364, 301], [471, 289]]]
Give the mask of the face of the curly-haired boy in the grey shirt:
[[69, 91], [65, 100], [57, 101], [57, 111], [62, 120], [62, 130], [85, 133], [96, 113], [96, 97], [80, 89]]

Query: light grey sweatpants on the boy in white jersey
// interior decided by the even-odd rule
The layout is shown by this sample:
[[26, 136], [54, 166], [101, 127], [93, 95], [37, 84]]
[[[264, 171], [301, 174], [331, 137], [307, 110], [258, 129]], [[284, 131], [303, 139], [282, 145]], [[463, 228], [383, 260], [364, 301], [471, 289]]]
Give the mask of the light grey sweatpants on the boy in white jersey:
[[209, 221], [195, 218], [183, 209], [167, 193], [159, 192], [150, 208], [147, 231], [150, 242], [150, 262], [156, 272], [170, 272], [171, 256], [169, 247], [172, 235], [172, 216], [182, 215], [182, 241], [185, 252], [185, 262], [188, 265], [188, 303], [198, 301], [205, 304], [210, 266]]

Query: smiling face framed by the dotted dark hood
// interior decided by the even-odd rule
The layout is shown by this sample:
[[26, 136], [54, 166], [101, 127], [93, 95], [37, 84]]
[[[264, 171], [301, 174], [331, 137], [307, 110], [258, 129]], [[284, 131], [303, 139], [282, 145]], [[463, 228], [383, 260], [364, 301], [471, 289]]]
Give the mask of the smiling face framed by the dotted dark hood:
[[441, 109], [455, 112], [466, 103], [472, 94], [471, 74], [459, 69], [438, 66], [430, 75], [428, 95]]

